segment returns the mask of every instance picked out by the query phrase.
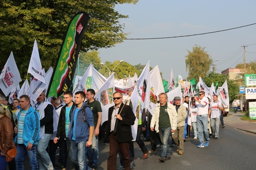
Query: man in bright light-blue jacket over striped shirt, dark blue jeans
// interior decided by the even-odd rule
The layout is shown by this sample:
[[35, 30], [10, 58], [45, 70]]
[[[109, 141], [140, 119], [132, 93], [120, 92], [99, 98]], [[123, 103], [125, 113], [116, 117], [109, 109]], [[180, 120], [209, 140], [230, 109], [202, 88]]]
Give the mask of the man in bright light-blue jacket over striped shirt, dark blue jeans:
[[20, 96], [20, 111], [17, 116], [18, 124], [14, 128], [17, 133], [14, 141], [17, 146], [16, 170], [24, 169], [24, 158], [28, 154], [31, 170], [38, 170], [36, 150], [38, 145], [40, 120], [38, 113], [29, 105], [28, 96]]

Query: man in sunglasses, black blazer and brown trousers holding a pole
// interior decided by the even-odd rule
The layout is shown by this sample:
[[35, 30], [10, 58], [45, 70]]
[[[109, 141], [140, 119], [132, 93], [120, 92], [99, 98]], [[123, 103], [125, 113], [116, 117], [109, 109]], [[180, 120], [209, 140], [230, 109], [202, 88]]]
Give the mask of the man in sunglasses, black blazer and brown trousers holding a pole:
[[130, 141], [132, 141], [132, 128], [136, 119], [132, 108], [122, 103], [123, 95], [114, 92], [115, 106], [108, 109], [108, 128], [104, 136], [104, 143], [109, 138], [108, 170], [116, 169], [116, 156], [120, 148], [126, 170], [130, 170]]

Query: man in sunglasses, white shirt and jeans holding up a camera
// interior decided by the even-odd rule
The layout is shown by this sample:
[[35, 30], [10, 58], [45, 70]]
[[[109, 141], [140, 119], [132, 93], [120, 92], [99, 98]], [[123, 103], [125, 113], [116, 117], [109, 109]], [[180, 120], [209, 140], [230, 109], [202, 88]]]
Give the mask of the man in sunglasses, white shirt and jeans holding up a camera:
[[[209, 133], [207, 129], [208, 125], [208, 104], [209, 100], [204, 96], [204, 91], [199, 92], [199, 99], [195, 98], [197, 106], [196, 125], [198, 128], [198, 137], [200, 144], [198, 148], [208, 147]], [[203, 134], [204, 133], [204, 134]], [[204, 135], [206, 142], [204, 143]]]

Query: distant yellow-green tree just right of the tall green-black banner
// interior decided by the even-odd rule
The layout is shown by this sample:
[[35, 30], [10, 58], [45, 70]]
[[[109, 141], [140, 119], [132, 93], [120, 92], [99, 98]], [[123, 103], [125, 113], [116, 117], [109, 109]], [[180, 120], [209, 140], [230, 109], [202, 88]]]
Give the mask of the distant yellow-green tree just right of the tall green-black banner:
[[[87, 70], [88, 66], [92, 63], [93, 67], [96, 70], [100, 70], [102, 68], [100, 57], [98, 56], [100, 52], [98, 51], [88, 51], [81, 52], [79, 55], [79, 74], [82, 76], [84, 72]], [[78, 65], [77, 65], [78, 67]], [[78, 70], [78, 68], [76, 68]]]

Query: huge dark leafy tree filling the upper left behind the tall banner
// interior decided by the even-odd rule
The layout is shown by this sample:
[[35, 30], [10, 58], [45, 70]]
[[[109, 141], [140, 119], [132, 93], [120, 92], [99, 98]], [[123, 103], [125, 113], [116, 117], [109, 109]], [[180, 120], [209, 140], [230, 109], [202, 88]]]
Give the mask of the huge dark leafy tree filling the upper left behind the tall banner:
[[70, 19], [78, 11], [90, 16], [81, 51], [113, 47], [126, 38], [124, 24], [128, 18], [114, 9], [116, 4], [138, 0], [1, 0], [0, 68], [13, 51], [20, 74], [25, 77], [34, 40], [37, 40], [42, 66], [54, 66]]

